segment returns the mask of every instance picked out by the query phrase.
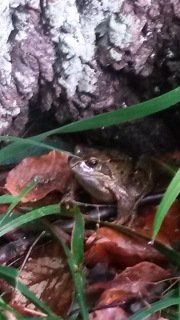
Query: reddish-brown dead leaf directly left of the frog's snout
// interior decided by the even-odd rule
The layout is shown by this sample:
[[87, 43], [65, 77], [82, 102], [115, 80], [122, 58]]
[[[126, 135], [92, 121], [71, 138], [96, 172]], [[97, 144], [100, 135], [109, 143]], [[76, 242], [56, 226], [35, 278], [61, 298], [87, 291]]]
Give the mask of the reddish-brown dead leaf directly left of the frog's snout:
[[5, 187], [12, 195], [18, 196], [30, 181], [38, 177], [40, 183], [22, 199], [22, 202], [31, 202], [44, 198], [54, 190], [64, 193], [71, 176], [68, 156], [53, 150], [40, 157], [22, 160], [9, 172]]

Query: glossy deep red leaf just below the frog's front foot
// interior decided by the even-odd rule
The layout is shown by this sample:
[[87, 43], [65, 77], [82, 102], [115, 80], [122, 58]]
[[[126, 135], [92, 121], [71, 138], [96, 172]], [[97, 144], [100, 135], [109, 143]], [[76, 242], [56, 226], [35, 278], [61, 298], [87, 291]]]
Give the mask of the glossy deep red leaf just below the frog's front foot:
[[[92, 241], [90, 243], [90, 241]], [[163, 261], [165, 258], [144, 240], [137, 240], [110, 228], [99, 228], [87, 241], [85, 263], [99, 262], [120, 267], [132, 266], [140, 261]]]

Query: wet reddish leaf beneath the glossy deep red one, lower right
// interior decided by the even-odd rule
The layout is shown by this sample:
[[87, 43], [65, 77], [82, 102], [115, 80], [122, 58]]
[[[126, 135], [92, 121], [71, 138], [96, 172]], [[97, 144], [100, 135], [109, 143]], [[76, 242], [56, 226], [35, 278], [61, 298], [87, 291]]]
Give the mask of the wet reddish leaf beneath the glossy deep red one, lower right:
[[[169, 278], [170, 272], [150, 262], [141, 262], [126, 268], [112, 281], [92, 285], [91, 289], [104, 286], [98, 307], [112, 303], [124, 303], [132, 298], [154, 298], [157, 295], [156, 282]], [[153, 291], [154, 289], [154, 291]], [[162, 287], [160, 287], [162, 289]]]

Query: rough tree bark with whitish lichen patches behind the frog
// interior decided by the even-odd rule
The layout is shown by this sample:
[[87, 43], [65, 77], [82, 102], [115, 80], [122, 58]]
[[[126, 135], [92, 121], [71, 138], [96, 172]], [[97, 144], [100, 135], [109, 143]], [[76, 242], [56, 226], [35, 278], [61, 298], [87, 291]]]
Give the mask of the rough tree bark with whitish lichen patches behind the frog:
[[[32, 105], [63, 124], [179, 84], [179, 0], [2, 0], [0, 17], [0, 134], [20, 134]], [[161, 150], [179, 124], [174, 109], [99, 136]]]

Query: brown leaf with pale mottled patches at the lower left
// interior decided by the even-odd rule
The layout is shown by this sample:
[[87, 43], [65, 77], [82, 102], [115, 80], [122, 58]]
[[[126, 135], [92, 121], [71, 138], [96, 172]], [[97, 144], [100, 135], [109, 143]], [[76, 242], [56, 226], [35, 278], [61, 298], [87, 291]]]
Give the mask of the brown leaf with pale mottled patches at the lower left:
[[[65, 316], [73, 297], [73, 283], [62, 249], [56, 243], [33, 250], [19, 280], [58, 315]], [[37, 311], [20, 292], [14, 291], [10, 305], [24, 315]]]

